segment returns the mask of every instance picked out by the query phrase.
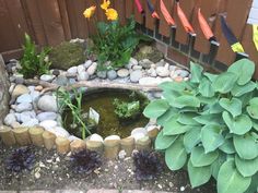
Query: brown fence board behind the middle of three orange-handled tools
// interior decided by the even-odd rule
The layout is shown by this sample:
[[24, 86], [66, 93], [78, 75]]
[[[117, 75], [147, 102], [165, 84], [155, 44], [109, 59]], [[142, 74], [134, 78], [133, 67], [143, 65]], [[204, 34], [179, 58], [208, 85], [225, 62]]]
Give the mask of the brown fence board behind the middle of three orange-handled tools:
[[[180, 0], [180, 8], [183, 9], [183, 11], [185, 12], [187, 19], [189, 20], [189, 22], [191, 21], [191, 13], [194, 11], [195, 8], [195, 0]], [[177, 16], [177, 12], [176, 9], [174, 9], [174, 19], [176, 22], [176, 41], [183, 44], [183, 45], [187, 45], [188, 44], [188, 34], [185, 32], [179, 17]]]

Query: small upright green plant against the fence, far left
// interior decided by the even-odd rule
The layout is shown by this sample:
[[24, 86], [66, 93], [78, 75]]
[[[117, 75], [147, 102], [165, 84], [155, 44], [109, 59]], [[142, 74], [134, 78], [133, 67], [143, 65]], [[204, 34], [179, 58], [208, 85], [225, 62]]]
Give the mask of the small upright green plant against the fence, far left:
[[25, 34], [25, 45], [23, 46], [23, 50], [24, 53], [21, 60], [22, 69], [20, 70], [20, 73], [22, 73], [25, 79], [48, 73], [51, 64], [48, 61], [50, 48], [44, 48], [39, 53], [37, 53], [36, 46], [32, 41], [32, 38]]

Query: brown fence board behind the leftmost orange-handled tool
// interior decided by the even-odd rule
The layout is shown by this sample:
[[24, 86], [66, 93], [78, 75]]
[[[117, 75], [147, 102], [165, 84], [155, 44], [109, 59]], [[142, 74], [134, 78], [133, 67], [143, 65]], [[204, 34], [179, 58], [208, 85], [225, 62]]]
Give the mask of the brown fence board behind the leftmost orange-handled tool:
[[[165, 7], [167, 8], [167, 11], [172, 14], [172, 11], [174, 10], [174, 1], [171, 1], [171, 0], [163, 0]], [[160, 8], [160, 3], [159, 3], [159, 8]], [[163, 16], [162, 12], [161, 12], [161, 9], [160, 10], [160, 34], [163, 35], [163, 36], [166, 36], [166, 37], [169, 37], [171, 36], [171, 26], [166, 23], [165, 21], [165, 17]], [[175, 12], [175, 11], [173, 11]]]

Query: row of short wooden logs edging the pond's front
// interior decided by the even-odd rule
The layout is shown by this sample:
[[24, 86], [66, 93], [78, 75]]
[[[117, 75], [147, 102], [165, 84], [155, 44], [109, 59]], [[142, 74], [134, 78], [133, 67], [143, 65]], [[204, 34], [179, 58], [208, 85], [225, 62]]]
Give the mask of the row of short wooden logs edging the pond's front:
[[130, 157], [133, 149], [150, 149], [152, 140], [156, 134], [157, 132], [155, 132], [155, 134], [152, 133], [151, 137], [145, 136], [137, 142], [133, 137], [107, 140], [104, 142], [90, 140], [74, 140], [70, 142], [66, 137], [56, 136], [54, 133], [46, 131], [42, 126], [16, 129], [11, 129], [5, 125], [0, 126], [0, 137], [7, 146], [26, 146], [33, 144], [39, 147], [45, 147], [48, 150], [56, 148], [58, 154], [68, 154], [70, 152], [75, 153], [87, 148], [89, 150], [95, 150], [98, 154], [104, 155], [110, 160], [117, 159], [120, 150], [125, 150], [126, 156]]

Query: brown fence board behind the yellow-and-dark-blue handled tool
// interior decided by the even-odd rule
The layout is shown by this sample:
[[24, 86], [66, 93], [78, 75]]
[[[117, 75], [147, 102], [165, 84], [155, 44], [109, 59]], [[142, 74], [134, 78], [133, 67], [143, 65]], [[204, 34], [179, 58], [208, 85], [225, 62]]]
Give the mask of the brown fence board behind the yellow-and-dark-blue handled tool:
[[[245, 3], [243, 3], [243, 0], [228, 0], [227, 2], [226, 22], [238, 39], [241, 39], [244, 33], [244, 27], [246, 25], [251, 2], [253, 0], [246, 0]], [[216, 31], [216, 36], [220, 40], [216, 60], [230, 65], [235, 60], [235, 53], [232, 51], [231, 46], [227, 44], [224, 35], [222, 34], [220, 25], [218, 25]]]

